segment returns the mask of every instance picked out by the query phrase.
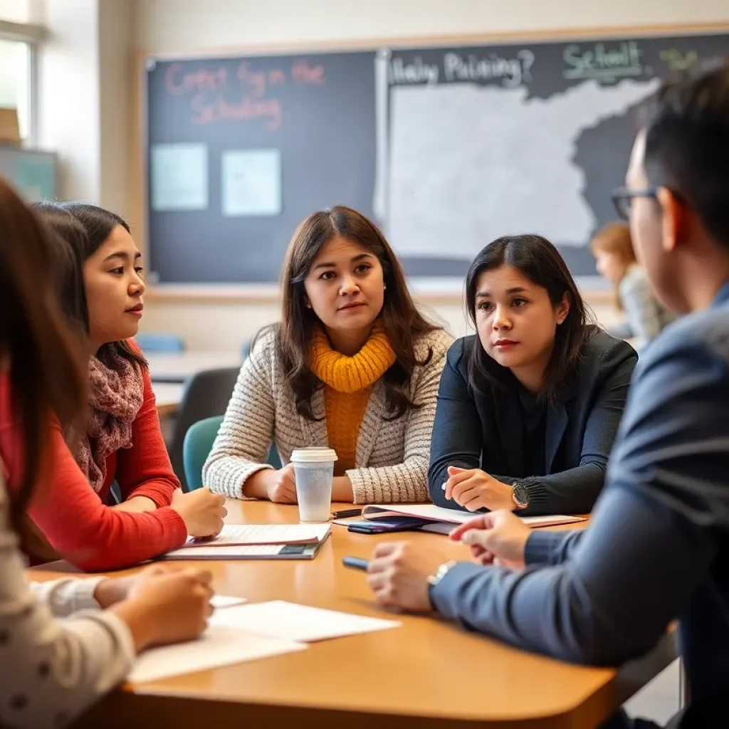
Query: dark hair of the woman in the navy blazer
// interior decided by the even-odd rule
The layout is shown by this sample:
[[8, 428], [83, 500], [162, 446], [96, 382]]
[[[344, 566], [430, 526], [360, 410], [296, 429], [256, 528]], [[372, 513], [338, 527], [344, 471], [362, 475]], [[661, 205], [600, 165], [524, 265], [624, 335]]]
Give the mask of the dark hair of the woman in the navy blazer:
[[[503, 265], [515, 268], [529, 281], [546, 289], [553, 305], [558, 305], [565, 295], [569, 300], [569, 313], [555, 332], [554, 349], [539, 394], [547, 402], [553, 402], [561, 386], [577, 369], [582, 346], [590, 332], [596, 330], [592, 312], [585, 306], [572, 273], [552, 243], [541, 235], [508, 235], [489, 243], [476, 256], [466, 275], [466, 302], [474, 326], [478, 279], [484, 271]], [[504, 378], [499, 377], [502, 369], [480, 343], [472, 348], [468, 372], [474, 389], [488, 392], [493, 386], [502, 386]]]

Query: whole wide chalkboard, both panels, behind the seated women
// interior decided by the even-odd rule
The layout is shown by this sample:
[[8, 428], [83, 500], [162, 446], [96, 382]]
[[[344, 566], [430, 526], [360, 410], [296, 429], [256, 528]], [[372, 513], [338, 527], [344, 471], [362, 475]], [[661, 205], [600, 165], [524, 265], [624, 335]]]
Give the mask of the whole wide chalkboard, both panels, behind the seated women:
[[275, 281], [297, 224], [342, 203], [411, 277], [462, 277], [483, 245], [528, 232], [590, 275], [636, 110], [727, 54], [717, 33], [152, 61], [150, 268]]

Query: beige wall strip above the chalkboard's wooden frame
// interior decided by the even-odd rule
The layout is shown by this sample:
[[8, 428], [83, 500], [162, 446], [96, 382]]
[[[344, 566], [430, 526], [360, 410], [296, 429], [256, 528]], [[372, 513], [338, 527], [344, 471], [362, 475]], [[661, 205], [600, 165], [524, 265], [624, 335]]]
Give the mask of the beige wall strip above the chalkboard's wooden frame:
[[138, 0], [153, 52], [729, 20], [726, 0]]

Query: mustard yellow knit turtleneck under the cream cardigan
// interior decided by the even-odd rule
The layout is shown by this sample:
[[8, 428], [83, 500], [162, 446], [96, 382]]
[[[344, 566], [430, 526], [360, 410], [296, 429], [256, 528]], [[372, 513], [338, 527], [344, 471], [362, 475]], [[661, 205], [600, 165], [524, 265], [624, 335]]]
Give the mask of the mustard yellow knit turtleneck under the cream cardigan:
[[317, 330], [311, 351], [311, 371], [324, 383], [324, 408], [330, 448], [337, 451], [335, 475], [356, 467], [359, 426], [373, 385], [395, 362], [387, 335], [375, 327], [362, 349], [352, 357], [332, 349], [327, 335]]

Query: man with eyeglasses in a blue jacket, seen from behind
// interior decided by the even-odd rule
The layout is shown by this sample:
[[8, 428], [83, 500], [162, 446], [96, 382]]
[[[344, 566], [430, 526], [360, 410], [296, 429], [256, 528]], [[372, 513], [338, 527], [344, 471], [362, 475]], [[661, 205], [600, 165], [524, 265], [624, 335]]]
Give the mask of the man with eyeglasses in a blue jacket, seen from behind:
[[[618, 210], [656, 295], [686, 313], [634, 373], [589, 529], [491, 512], [451, 534], [485, 566], [379, 545], [383, 605], [436, 611], [529, 650], [618, 666], [679, 620], [691, 703], [671, 726], [729, 727], [729, 68], [647, 106]], [[494, 566], [494, 561], [499, 566]], [[623, 714], [609, 727], [629, 726]], [[639, 726], [654, 726], [641, 722]]]

